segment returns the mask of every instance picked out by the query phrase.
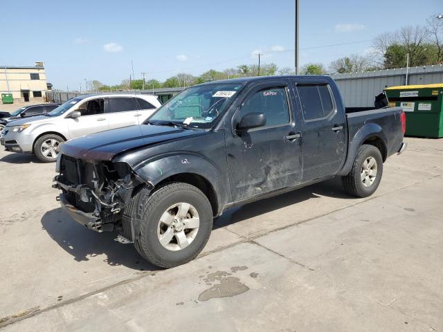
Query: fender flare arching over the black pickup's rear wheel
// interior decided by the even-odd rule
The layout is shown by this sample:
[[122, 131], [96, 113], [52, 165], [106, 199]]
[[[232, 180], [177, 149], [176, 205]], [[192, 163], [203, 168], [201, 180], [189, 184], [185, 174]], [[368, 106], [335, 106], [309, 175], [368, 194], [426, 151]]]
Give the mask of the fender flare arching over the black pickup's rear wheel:
[[352, 165], [354, 164], [354, 160], [357, 154], [357, 151], [359, 151], [359, 148], [361, 145], [363, 145], [363, 142], [367, 140], [370, 137], [377, 137], [380, 138], [383, 141], [383, 144], [385, 147], [388, 147], [385, 133], [383, 133], [383, 129], [379, 126], [377, 123], [366, 123], [363, 124], [363, 127], [361, 127], [358, 131], [356, 131], [354, 137], [350, 138], [349, 144], [347, 147], [347, 158], [345, 165], [343, 165], [343, 168], [340, 172], [338, 172], [338, 175], [340, 176], [346, 176], [351, 172]]

